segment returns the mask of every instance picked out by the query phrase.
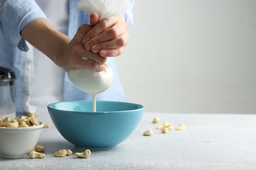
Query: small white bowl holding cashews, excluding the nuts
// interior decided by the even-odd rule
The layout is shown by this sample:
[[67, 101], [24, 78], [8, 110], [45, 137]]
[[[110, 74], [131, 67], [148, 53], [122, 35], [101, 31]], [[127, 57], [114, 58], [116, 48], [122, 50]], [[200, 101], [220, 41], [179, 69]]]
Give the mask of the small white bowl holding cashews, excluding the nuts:
[[30, 127], [0, 127], [0, 156], [24, 158], [37, 144], [44, 124]]

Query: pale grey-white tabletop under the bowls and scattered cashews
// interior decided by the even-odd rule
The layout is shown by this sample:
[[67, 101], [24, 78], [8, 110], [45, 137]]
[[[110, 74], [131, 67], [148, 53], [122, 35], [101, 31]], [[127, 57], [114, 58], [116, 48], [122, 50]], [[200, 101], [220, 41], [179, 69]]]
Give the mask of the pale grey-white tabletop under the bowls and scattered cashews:
[[[155, 116], [161, 122], [153, 124]], [[256, 114], [196, 114], [144, 112], [132, 135], [116, 148], [92, 150], [90, 158], [54, 157], [54, 152], [70, 148], [56, 130], [46, 108], [39, 109], [39, 120], [51, 125], [43, 129], [38, 144], [46, 147], [43, 159], [0, 158], [0, 169], [256, 169]], [[163, 122], [183, 123], [184, 131], [161, 133]], [[152, 129], [154, 135], [142, 135]]]

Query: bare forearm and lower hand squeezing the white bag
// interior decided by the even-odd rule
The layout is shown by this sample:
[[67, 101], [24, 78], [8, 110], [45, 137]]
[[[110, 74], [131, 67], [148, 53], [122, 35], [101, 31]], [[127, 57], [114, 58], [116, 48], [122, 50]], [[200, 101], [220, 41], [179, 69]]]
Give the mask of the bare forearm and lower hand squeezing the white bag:
[[81, 25], [74, 39], [70, 39], [57, 31], [48, 20], [38, 18], [26, 25], [20, 34], [65, 71], [72, 69], [102, 71], [106, 58], [85, 50], [82, 43], [83, 37], [91, 28], [91, 25]]

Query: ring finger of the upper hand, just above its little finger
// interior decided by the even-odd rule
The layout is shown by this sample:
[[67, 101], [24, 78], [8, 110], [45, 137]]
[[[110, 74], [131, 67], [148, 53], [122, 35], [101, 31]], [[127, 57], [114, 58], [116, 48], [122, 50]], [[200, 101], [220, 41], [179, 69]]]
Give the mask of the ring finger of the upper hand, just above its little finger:
[[111, 41], [103, 42], [101, 44], [96, 44], [91, 47], [91, 51], [94, 53], [100, 52], [100, 50], [110, 50], [110, 49], [117, 49], [123, 46], [126, 46], [127, 42], [129, 41], [129, 34], [123, 33], [116, 39], [112, 39]]

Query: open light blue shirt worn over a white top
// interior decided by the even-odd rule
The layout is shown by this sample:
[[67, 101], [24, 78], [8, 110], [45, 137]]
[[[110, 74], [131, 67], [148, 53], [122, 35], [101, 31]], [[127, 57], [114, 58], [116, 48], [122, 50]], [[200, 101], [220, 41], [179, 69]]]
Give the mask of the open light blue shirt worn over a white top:
[[[89, 16], [83, 11], [75, 10], [78, 0], [69, 1], [68, 36], [74, 37], [77, 28], [81, 24], [89, 24]], [[123, 14], [129, 25], [133, 25], [133, 3], [130, 0], [130, 9]], [[26, 65], [26, 52], [28, 46], [20, 36], [20, 31], [36, 18], [47, 18], [44, 12], [33, 0], [0, 0], [0, 66], [14, 70], [16, 74], [16, 112], [21, 114], [24, 96], [24, 69]], [[117, 75], [116, 61], [108, 59], [108, 65], [114, 71], [112, 86], [103, 93], [97, 95], [98, 100], [123, 100], [124, 93]], [[64, 74], [63, 100], [91, 100], [90, 94], [83, 93], [74, 87]]]

